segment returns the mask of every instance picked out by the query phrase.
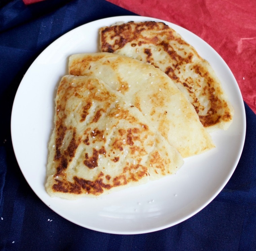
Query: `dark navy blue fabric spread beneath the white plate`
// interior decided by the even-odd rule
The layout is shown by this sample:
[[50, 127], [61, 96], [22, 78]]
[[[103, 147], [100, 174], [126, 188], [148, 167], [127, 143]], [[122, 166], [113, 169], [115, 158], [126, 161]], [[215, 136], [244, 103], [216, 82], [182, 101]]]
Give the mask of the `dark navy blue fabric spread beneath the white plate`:
[[104, 0], [2, 3], [0, 250], [256, 250], [256, 115], [247, 104], [245, 147], [234, 174], [208, 206], [178, 225], [149, 234], [105, 234], [75, 225], [44, 205], [12, 149], [10, 117], [19, 83], [39, 53], [62, 34], [96, 19], [133, 13]]

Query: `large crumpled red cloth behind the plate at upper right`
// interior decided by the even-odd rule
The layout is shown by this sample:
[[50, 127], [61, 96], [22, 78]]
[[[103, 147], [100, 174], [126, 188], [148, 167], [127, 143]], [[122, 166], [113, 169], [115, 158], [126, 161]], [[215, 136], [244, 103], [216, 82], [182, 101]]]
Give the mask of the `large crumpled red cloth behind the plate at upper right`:
[[256, 113], [256, 2], [254, 0], [107, 0], [142, 16], [184, 27], [225, 60], [244, 101]]

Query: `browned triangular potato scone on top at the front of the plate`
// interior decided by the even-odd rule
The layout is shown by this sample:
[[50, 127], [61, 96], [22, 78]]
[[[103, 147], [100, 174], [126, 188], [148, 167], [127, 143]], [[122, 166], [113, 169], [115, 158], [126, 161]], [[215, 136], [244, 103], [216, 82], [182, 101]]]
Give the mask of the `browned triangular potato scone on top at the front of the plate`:
[[54, 123], [51, 196], [97, 197], [174, 174], [184, 163], [136, 107], [95, 77], [62, 78]]

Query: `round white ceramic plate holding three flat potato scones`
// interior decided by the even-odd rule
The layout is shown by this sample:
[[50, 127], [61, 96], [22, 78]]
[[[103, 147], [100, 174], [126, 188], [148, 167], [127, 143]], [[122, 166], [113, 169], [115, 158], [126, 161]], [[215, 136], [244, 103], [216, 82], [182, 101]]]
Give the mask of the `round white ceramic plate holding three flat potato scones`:
[[139, 234], [164, 229], [193, 216], [223, 189], [241, 156], [245, 140], [245, 110], [241, 92], [218, 53], [191, 32], [168, 22], [208, 60], [234, 107], [227, 131], [212, 133], [216, 149], [185, 159], [178, 174], [98, 199], [68, 201], [45, 192], [47, 145], [53, 129], [54, 98], [68, 57], [99, 51], [98, 28], [124, 21], [159, 19], [119, 16], [82, 25], [47, 47], [25, 74], [13, 103], [11, 135], [15, 156], [27, 182], [52, 210], [83, 227], [114, 234]]

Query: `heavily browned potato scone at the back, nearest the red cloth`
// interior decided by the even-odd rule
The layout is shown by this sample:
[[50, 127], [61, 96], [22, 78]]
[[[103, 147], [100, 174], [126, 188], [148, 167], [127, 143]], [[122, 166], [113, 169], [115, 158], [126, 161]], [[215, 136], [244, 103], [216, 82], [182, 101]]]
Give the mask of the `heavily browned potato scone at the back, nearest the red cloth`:
[[226, 130], [233, 108], [209, 62], [161, 22], [128, 22], [100, 29], [100, 50], [148, 62], [165, 72], [186, 95], [202, 125]]

